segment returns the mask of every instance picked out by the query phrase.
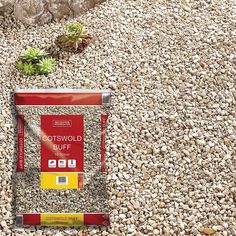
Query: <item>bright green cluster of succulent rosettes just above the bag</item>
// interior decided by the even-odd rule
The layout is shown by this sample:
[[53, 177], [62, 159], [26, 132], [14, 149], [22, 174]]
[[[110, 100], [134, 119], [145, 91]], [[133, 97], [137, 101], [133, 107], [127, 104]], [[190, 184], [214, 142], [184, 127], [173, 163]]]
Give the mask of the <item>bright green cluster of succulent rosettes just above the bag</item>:
[[16, 63], [25, 75], [47, 75], [55, 70], [55, 65], [55, 59], [39, 48], [26, 49]]

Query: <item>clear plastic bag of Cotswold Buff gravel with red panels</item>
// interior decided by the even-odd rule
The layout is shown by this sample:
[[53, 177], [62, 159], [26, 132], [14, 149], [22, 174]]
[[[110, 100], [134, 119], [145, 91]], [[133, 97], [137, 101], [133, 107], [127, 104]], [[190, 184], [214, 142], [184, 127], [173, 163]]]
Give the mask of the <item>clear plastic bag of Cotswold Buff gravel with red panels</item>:
[[17, 225], [109, 225], [110, 90], [17, 89]]

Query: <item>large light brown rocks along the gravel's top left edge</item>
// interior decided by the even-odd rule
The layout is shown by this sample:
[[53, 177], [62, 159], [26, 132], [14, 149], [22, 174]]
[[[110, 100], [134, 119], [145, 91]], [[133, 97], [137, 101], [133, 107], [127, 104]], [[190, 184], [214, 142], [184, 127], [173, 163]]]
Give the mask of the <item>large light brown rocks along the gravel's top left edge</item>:
[[0, 15], [14, 11], [24, 24], [45, 24], [65, 16], [78, 16], [104, 0], [0, 0]]

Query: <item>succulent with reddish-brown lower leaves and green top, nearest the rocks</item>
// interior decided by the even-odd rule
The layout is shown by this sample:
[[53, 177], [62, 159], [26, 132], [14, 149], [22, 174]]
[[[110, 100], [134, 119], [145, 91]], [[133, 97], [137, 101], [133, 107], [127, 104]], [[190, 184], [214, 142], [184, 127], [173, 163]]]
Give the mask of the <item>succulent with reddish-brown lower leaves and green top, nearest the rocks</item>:
[[92, 37], [86, 34], [80, 22], [72, 22], [65, 25], [64, 34], [57, 37], [56, 44], [60, 48], [82, 52], [91, 40]]

